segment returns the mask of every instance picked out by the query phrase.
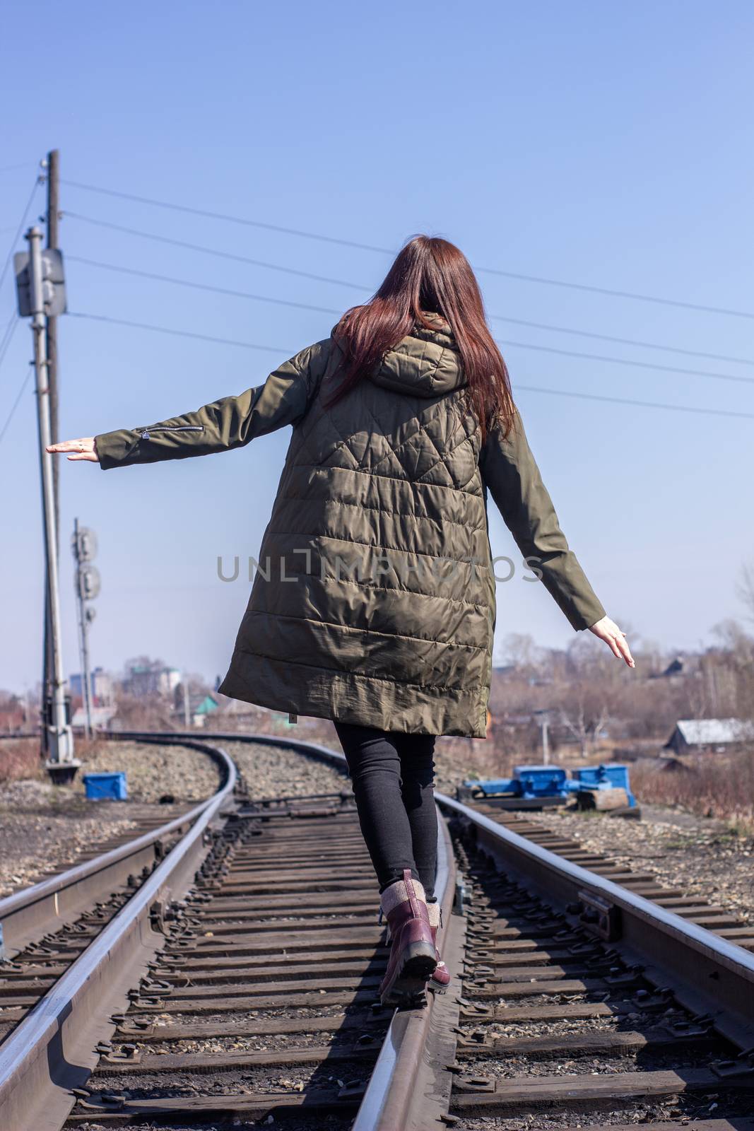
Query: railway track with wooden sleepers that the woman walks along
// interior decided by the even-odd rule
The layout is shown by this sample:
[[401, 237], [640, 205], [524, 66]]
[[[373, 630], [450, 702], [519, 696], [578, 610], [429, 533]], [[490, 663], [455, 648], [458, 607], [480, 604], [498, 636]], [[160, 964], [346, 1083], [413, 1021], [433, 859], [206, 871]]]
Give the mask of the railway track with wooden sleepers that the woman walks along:
[[227, 759], [220, 794], [62, 975], [45, 961], [44, 996], [0, 1044], [3, 1131], [754, 1131], [751, 930], [526, 819], [439, 804], [453, 986], [391, 1013], [346, 782], [260, 802]]

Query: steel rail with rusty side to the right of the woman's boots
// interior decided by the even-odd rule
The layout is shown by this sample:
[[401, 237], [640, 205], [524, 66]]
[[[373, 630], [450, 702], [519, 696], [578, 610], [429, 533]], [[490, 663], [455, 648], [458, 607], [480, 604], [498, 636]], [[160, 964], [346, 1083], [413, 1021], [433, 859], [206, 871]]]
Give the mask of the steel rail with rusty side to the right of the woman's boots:
[[613, 946], [627, 949], [650, 982], [671, 987], [692, 1012], [709, 1012], [722, 1036], [742, 1048], [754, 1045], [754, 955], [452, 797], [435, 797], [442, 810], [470, 822], [478, 844], [525, 886], [534, 883], [561, 905], [588, 892], [618, 908], [621, 934]]

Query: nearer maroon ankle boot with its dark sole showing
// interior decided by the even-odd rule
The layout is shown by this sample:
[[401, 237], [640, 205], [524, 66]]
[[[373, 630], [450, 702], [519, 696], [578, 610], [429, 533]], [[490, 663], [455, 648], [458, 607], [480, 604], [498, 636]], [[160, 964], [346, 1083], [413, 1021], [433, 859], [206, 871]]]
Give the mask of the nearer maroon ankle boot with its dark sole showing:
[[390, 927], [388, 969], [380, 986], [383, 1005], [407, 1002], [426, 988], [437, 965], [424, 888], [409, 869], [382, 892], [380, 904]]

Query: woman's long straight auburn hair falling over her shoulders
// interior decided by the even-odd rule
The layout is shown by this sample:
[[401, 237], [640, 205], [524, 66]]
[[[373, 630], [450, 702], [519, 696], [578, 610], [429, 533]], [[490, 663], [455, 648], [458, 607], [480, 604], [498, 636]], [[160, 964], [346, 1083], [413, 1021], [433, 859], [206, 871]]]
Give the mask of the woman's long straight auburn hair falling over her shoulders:
[[428, 235], [409, 240], [374, 297], [347, 310], [335, 328], [333, 337], [345, 354], [344, 375], [328, 406], [372, 372], [417, 322], [436, 329], [425, 312], [441, 314], [450, 325], [483, 441], [494, 420], [508, 434], [515, 407], [505, 362], [487, 326], [479, 285], [462, 251]]

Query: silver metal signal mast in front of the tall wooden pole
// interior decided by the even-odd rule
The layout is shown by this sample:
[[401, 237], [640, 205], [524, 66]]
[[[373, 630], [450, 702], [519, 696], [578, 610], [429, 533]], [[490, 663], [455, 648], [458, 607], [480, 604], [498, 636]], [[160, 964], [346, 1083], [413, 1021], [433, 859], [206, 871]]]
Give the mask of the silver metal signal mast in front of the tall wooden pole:
[[47, 312], [66, 309], [62, 278], [62, 257], [59, 252], [42, 253], [42, 232], [31, 227], [26, 233], [28, 256], [15, 256], [18, 286], [18, 307], [21, 318], [31, 316], [34, 337], [34, 371], [36, 377], [36, 409], [42, 477], [42, 515], [44, 549], [47, 567], [47, 595], [50, 602], [50, 640], [52, 651], [51, 718], [46, 715], [47, 770], [53, 782], [70, 780], [80, 762], [73, 758], [73, 733], [66, 718], [66, 691], [60, 627], [60, 588], [58, 584], [58, 534], [55, 500], [52, 481], [52, 455], [46, 451], [50, 440], [50, 389], [47, 385]]

